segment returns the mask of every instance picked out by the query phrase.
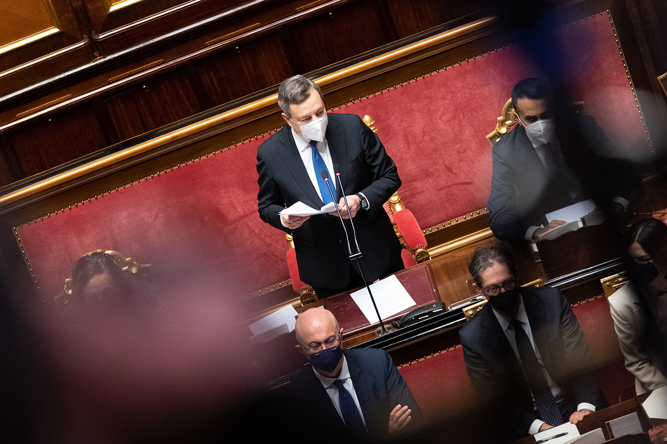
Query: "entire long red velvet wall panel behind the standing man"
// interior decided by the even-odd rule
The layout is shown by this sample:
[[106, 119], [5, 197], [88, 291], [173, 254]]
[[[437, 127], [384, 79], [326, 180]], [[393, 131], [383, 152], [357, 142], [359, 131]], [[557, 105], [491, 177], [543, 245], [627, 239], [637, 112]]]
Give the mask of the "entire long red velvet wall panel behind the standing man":
[[[607, 15], [573, 23], [559, 33], [578, 67], [570, 71], [573, 99], [586, 103], [586, 111], [612, 140], [622, 141], [627, 150], [646, 150]], [[492, 161], [485, 136], [514, 83], [538, 74], [512, 46], [338, 112], [370, 114], [376, 120], [403, 180], [404, 202], [427, 228], [486, 206]], [[237, 282], [230, 284], [242, 293], [289, 278], [283, 232], [257, 215], [255, 153], [261, 140], [18, 228], [42, 294], [59, 293], [74, 260], [95, 248], [153, 264], [181, 256], [206, 258], [234, 272]]]

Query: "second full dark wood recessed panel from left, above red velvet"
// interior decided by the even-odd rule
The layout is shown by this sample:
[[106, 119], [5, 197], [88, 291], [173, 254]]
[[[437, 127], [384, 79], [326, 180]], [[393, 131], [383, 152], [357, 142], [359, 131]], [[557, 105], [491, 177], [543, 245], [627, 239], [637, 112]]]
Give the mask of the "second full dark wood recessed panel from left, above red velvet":
[[106, 99], [121, 140], [203, 111], [185, 69]]

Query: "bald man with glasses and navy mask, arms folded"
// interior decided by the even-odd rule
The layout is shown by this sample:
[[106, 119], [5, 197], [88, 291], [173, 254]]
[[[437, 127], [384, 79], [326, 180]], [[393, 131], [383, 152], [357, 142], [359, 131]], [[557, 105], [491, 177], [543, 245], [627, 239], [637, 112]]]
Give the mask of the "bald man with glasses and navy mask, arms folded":
[[295, 333], [296, 347], [310, 365], [285, 390], [291, 415], [317, 424], [316, 429], [326, 431], [322, 438], [327, 442], [378, 441], [390, 434], [396, 439], [398, 431], [401, 437], [418, 429], [420, 409], [386, 351], [343, 351], [343, 329], [323, 308], [303, 312]]

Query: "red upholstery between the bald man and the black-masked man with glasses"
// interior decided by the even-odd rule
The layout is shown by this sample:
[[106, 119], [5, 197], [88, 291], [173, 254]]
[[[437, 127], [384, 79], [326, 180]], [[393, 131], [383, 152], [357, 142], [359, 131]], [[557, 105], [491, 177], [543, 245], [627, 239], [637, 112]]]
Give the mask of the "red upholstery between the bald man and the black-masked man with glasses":
[[401, 367], [399, 371], [424, 418], [431, 423], [460, 417], [478, 405], [460, 346]]

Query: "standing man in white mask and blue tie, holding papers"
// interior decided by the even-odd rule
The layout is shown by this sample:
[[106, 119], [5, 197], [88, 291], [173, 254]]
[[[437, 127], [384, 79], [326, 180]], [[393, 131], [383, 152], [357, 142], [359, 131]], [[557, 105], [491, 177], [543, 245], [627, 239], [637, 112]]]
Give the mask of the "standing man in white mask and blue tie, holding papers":
[[[279, 214], [285, 205], [299, 201], [311, 208], [332, 202], [323, 170], [350, 236], [348, 219], [354, 218], [366, 280], [374, 282], [404, 268], [400, 242], [382, 208], [401, 180], [378, 136], [359, 116], [327, 114], [319, 87], [301, 75], [281, 83], [278, 105], [287, 126], [257, 148], [259, 216], [292, 234], [301, 280], [320, 297], [364, 286], [350, 262], [348, 240], [335, 211]], [[347, 196], [335, 180], [337, 172]]]

